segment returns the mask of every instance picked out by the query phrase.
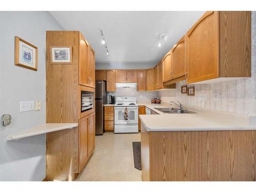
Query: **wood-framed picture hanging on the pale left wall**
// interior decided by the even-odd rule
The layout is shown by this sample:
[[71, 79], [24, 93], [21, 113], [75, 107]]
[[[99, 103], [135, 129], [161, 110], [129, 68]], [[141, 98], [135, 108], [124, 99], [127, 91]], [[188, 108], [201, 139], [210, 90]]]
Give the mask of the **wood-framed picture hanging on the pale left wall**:
[[15, 65], [37, 71], [37, 47], [15, 36]]

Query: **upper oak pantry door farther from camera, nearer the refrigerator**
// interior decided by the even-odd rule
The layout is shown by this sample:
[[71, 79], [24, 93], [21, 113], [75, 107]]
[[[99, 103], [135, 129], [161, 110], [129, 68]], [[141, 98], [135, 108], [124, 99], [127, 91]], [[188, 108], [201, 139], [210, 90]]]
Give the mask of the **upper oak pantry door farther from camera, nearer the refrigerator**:
[[88, 82], [90, 87], [95, 88], [95, 54], [91, 46], [88, 52]]

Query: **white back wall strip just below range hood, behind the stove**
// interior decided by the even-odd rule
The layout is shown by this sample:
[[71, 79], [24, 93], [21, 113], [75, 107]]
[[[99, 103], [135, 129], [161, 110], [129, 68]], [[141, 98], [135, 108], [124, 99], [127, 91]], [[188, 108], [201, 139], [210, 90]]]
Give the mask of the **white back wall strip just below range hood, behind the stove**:
[[[137, 91], [137, 88], [116, 88], [115, 92], [108, 92], [109, 95], [115, 95], [116, 97], [136, 97], [137, 101], [150, 102], [150, 99], [158, 97], [157, 91]], [[109, 99], [109, 97], [108, 97]]]

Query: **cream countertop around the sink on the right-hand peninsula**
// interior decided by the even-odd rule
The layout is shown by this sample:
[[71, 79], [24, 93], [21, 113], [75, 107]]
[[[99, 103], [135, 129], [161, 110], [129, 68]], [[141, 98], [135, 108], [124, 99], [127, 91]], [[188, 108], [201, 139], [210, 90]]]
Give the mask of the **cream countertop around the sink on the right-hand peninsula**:
[[[151, 104], [138, 102], [159, 115], [139, 115], [147, 131], [224, 131], [256, 130], [256, 124], [249, 124], [247, 115], [184, 106], [196, 114], [164, 114], [154, 108], [172, 107], [168, 103]], [[176, 108], [176, 106], [173, 106]], [[253, 117], [256, 118], [256, 117]]]

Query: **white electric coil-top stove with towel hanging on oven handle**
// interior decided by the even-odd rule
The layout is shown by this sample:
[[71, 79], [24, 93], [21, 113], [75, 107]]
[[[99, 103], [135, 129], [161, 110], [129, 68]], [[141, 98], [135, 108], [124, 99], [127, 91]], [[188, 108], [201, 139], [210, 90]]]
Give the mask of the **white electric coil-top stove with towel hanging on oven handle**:
[[115, 104], [115, 133], [138, 133], [138, 104], [136, 97], [117, 97]]

